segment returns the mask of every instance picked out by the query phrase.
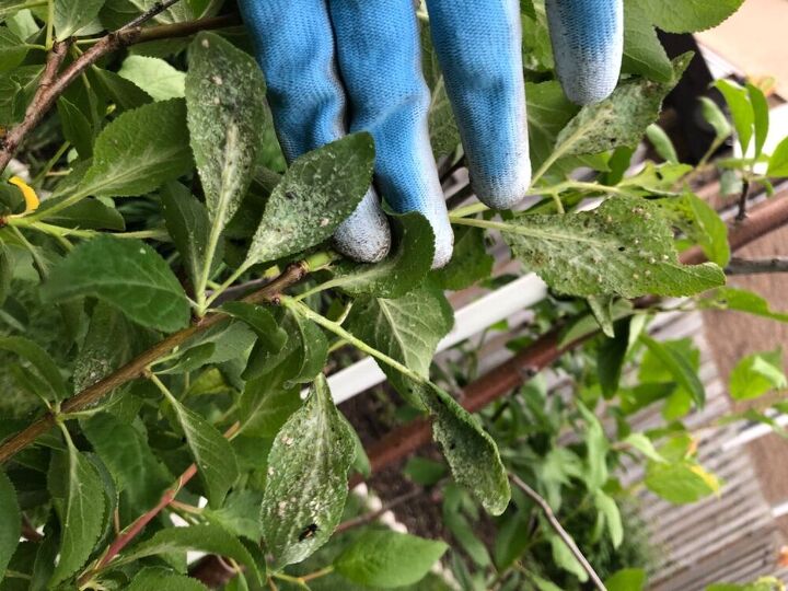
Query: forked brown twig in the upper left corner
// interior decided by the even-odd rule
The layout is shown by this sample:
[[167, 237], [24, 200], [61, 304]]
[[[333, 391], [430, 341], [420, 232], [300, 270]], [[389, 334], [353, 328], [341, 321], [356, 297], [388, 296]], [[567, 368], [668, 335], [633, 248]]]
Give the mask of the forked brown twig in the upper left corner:
[[55, 105], [58, 97], [66, 91], [77, 78], [79, 78], [90, 66], [107, 54], [116, 51], [123, 47], [128, 47], [136, 43], [144, 43], [162, 38], [184, 37], [192, 35], [198, 31], [209, 28], [221, 28], [239, 23], [236, 15], [216, 16], [211, 19], [200, 19], [186, 23], [174, 23], [161, 26], [152, 26], [143, 28], [141, 25], [166, 10], [177, 0], [167, 0], [166, 2], [158, 2], [150, 10], [121, 26], [117, 31], [107, 33], [92, 45], [84, 54], [72, 61], [61, 73], [58, 70], [66, 57], [66, 51], [71, 40], [56, 42], [47, 58], [44, 68], [44, 74], [38, 83], [38, 89], [25, 111], [25, 116], [18, 126], [9, 130], [9, 132], [0, 139], [0, 173], [5, 170], [11, 158], [22, 144], [24, 138], [30, 134]]

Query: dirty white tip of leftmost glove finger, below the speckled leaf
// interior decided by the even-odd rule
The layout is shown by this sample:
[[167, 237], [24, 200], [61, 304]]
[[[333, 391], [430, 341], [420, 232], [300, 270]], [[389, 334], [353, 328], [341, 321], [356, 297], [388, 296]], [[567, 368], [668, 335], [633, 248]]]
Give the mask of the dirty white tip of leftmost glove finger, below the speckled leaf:
[[389, 220], [370, 188], [350, 217], [334, 233], [334, 245], [358, 263], [380, 263], [391, 250]]

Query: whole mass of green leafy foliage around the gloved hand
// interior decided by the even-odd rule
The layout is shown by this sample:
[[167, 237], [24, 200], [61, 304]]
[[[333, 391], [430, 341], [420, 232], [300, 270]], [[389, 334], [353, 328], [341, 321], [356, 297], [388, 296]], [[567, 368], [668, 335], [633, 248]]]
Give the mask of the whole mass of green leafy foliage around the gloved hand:
[[[690, 59], [668, 60], [653, 26], [707, 27], [740, 3], [687, 0], [668, 11], [627, 0], [627, 76], [610, 99], [579, 109], [553, 79], [543, 3], [523, 2], [534, 192], [545, 200], [500, 219], [477, 206], [453, 211], [455, 255], [434, 271], [433, 236], [418, 215], [393, 217], [395, 248], [380, 264], [323, 250], [371, 182], [371, 138], [348, 136], [286, 169], [265, 82], [236, 31], [142, 44], [86, 69], [27, 138], [16, 171], [24, 178], [0, 187], [0, 383], [13, 393], [2, 403], [0, 450], [31, 413], [57, 426], [24, 441], [0, 473], [0, 589], [202, 589], [186, 576], [188, 551], [225, 557], [236, 575], [228, 589], [445, 588], [427, 576], [447, 552], [442, 542], [368, 526], [326, 545], [352, 513], [348, 475], [369, 471], [323, 376], [347, 357], [335, 354], [346, 345], [378, 361], [403, 408], [432, 420], [444, 461], [412, 461], [406, 473], [440, 485], [463, 586], [552, 590], [586, 580], [535, 506], [518, 490], [510, 503], [512, 472], [555, 511], [581, 508], [568, 526], [583, 546], [605, 547], [609, 589], [642, 588], [645, 572], [614, 572], [642, 563], [621, 549], [635, 528], [618, 508], [618, 457], [642, 454], [645, 486], [672, 502], [715, 494], [719, 483], [681, 429], [627, 431], [627, 416], [645, 405], [663, 404], [676, 422], [704, 393], [688, 344], [650, 339], [646, 314], [626, 299], [717, 288], [696, 304], [785, 320], [756, 296], [721, 287], [727, 230], [691, 192], [692, 166], [665, 158], [625, 176]], [[24, 117], [53, 40], [78, 37], [69, 59], [80, 59], [103, 31], [154, 4], [0, 0], [0, 125]], [[220, 9], [184, 0], [154, 24]], [[427, 34], [424, 45], [433, 149], [456, 162]], [[785, 148], [763, 154], [761, 91], [725, 88], [743, 150], [720, 165], [748, 182], [786, 174]], [[725, 117], [708, 112], [727, 140]], [[660, 153], [675, 153], [653, 128], [649, 137]], [[767, 158], [769, 170], [756, 173]], [[595, 179], [568, 179], [578, 166]], [[580, 211], [588, 197], [604, 202]], [[506, 413], [485, 415], [485, 429], [449, 394], [467, 371], [448, 386], [430, 378], [453, 325], [445, 292], [490, 281], [487, 231], [566, 298], [564, 312], [578, 316], [568, 340], [598, 326], [607, 338], [584, 349], [598, 372], [584, 373], [575, 403], [548, 403], [532, 383]], [[680, 263], [694, 244], [709, 263]], [[259, 277], [279, 277], [276, 289], [233, 299]], [[636, 361], [638, 382], [622, 385], [622, 368]], [[784, 386], [775, 354], [746, 358], [731, 376], [742, 398]], [[613, 439], [594, 414], [603, 398], [618, 413]], [[560, 444], [568, 429], [580, 437]], [[493, 519], [477, 505], [500, 515], [493, 557], [473, 532], [473, 521]], [[292, 566], [318, 560], [313, 571]]]

